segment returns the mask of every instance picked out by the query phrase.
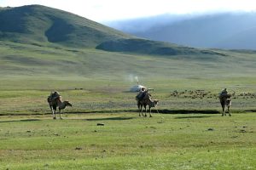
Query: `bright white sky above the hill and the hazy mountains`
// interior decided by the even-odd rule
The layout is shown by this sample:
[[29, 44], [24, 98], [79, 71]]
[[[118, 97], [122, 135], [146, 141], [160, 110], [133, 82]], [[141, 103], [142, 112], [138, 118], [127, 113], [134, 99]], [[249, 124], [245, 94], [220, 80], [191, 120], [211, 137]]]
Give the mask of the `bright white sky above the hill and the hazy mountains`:
[[98, 22], [158, 14], [256, 11], [255, 0], [0, 0], [1, 7], [41, 4]]

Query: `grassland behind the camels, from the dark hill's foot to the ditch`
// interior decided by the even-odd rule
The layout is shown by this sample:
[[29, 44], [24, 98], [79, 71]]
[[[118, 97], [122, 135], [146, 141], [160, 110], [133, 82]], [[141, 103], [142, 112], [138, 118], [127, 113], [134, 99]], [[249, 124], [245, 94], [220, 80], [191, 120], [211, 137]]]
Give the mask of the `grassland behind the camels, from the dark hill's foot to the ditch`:
[[[215, 110], [218, 99], [173, 98], [172, 91], [202, 89], [218, 94], [222, 88], [255, 94], [253, 52], [219, 51], [223, 55], [154, 56], [96, 49], [38, 47], [0, 42], [0, 114], [47, 114], [50, 91], [58, 90], [74, 105], [70, 112], [130, 111], [136, 108], [131, 86], [154, 88], [165, 110]], [[254, 110], [252, 96], [235, 99], [233, 110]], [[14, 105], [15, 101], [15, 105]], [[235, 105], [236, 104], [236, 105]], [[109, 105], [112, 105], [109, 108]]]

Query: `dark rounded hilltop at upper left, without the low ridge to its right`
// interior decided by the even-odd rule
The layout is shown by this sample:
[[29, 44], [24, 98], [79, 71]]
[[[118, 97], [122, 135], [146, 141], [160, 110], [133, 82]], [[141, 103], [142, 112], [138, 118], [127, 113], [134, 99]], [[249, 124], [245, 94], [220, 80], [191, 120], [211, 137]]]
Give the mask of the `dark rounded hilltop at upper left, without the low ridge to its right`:
[[39, 5], [2, 8], [0, 23], [0, 40], [12, 42], [96, 47], [110, 39], [131, 37], [78, 15]]

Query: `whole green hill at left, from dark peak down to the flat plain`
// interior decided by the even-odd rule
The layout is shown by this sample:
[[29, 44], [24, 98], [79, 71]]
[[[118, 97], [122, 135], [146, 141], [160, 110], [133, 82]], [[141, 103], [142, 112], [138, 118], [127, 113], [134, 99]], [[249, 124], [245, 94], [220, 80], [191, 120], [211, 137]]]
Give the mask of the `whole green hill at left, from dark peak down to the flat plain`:
[[161, 82], [255, 76], [255, 51], [150, 41], [38, 5], [2, 8], [0, 20], [2, 89], [63, 86], [57, 80], [73, 87], [71, 82], [131, 77]]

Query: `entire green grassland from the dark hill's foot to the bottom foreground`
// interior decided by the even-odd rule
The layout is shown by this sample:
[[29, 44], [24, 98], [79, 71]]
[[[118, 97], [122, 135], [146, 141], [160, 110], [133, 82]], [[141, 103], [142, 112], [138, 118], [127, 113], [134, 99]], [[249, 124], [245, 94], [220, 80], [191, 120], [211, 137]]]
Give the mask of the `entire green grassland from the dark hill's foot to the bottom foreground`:
[[[159, 56], [0, 43], [0, 169], [256, 167], [252, 51]], [[160, 100], [153, 118], [137, 114], [135, 77]], [[219, 113], [222, 88], [236, 91], [231, 117]], [[73, 104], [64, 120], [51, 119], [52, 90]], [[211, 93], [187, 94], [196, 90]]]

